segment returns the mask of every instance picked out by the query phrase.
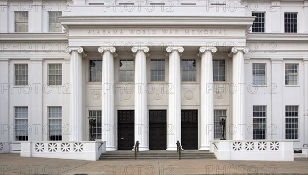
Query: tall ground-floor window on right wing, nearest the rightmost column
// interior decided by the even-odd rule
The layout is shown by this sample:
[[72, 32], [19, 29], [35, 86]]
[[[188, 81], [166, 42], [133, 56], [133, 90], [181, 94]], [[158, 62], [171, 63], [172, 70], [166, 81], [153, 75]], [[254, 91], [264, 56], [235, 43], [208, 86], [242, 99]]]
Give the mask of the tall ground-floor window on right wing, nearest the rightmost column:
[[266, 139], [266, 106], [253, 106], [253, 139]]

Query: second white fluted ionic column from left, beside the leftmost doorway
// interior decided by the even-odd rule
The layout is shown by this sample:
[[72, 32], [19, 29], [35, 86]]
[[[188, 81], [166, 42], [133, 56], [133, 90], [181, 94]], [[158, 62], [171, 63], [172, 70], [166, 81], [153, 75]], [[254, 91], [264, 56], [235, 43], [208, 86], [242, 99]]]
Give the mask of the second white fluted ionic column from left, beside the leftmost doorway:
[[107, 151], [116, 151], [114, 125], [114, 71], [113, 56], [117, 56], [115, 48], [99, 47], [102, 53], [102, 141], [106, 141]]

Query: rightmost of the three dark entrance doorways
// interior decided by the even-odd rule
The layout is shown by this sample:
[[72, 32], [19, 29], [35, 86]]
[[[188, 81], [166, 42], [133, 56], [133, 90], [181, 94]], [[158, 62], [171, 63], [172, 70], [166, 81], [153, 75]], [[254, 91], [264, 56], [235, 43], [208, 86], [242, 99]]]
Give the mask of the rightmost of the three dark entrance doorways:
[[198, 149], [198, 110], [181, 110], [181, 145]]

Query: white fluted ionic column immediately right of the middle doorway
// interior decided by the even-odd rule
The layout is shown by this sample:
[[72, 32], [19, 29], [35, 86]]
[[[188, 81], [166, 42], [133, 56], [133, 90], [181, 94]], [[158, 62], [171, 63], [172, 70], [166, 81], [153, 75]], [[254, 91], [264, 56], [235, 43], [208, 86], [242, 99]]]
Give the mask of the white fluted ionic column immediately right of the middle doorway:
[[181, 143], [181, 55], [182, 46], [168, 46], [169, 88], [167, 117], [167, 151], [177, 150], [177, 141]]

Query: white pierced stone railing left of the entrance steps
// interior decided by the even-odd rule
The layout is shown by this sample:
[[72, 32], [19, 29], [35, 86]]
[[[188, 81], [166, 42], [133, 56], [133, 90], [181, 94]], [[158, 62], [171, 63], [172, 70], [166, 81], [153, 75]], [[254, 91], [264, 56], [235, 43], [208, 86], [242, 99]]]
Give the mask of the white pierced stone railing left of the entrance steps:
[[106, 141], [30, 141], [21, 143], [22, 157], [99, 160]]

